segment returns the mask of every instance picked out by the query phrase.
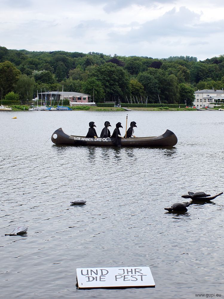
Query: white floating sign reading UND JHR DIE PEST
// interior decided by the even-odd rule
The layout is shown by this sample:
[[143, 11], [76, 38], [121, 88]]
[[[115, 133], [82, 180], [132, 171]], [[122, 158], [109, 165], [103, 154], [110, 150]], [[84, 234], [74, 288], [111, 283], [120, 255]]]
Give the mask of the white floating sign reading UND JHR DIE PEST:
[[154, 287], [149, 267], [78, 268], [79, 289]]

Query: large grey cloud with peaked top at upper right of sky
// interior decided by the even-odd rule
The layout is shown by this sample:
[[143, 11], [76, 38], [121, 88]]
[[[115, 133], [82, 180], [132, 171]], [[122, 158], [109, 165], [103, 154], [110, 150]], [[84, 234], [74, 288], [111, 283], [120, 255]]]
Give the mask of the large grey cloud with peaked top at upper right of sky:
[[158, 19], [139, 24], [138, 29], [132, 28], [125, 35], [111, 32], [109, 36], [116, 41], [152, 42], [161, 37], [206, 37], [208, 33], [222, 32], [223, 27], [223, 21], [201, 22], [199, 14], [181, 7], [179, 11], [174, 8]]

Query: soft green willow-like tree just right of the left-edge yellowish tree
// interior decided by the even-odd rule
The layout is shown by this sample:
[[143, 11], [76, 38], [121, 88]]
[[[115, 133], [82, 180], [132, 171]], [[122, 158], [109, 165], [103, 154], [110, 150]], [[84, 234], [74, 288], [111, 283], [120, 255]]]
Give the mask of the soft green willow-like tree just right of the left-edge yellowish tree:
[[21, 75], [16, 83], [15, 90], [19, 94], [20, 100], [24, 103], [33, 98], [35, 80], [27, 75]]

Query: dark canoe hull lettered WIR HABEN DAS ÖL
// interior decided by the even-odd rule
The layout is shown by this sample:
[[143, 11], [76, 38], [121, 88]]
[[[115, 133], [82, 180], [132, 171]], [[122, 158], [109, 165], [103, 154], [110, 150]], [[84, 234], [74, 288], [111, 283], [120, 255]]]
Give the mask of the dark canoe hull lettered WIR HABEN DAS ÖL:
[[[58, 145], [114, 146], [111, 138], [86, 138], [67, 135], [62, 128], [53, 132], [51, 141]], [[122, 147], [173, 147], [175, 144], [177, 144], [177, 136], [170, 130], [166, 130], [160, 136], [121, 139]]]

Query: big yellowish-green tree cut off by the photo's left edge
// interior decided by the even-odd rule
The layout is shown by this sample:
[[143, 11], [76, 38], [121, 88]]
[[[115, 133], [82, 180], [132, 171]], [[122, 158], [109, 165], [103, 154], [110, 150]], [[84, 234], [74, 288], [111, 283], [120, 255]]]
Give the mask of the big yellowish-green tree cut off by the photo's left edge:
[[0, 89], [2, 88], [3, 96], [13, 91], [19, 75], [21, 75], [21, 72], [11, 62], [0, 63]]

